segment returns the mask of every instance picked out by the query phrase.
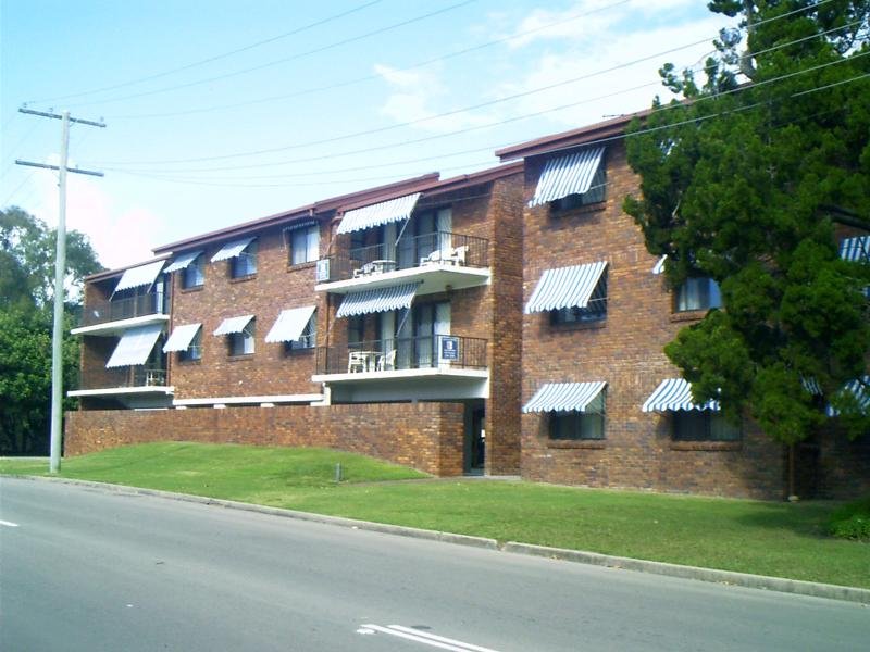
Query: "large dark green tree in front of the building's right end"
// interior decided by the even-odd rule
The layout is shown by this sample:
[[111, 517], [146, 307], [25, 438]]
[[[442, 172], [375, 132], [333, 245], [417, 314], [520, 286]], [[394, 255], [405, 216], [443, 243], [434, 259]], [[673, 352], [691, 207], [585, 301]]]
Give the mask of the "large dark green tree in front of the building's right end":
[[668, 254], [669, 284], [708, 276], [722, 290], [723, 310], [666, 353], [697, 401], [748, 410], [781, 441], [812, 434], [828, 405], [868, 432], [843, 387], [868, 373], [870, 264], [841, 260], [837, 238], [870, 233], [870, 2], [708, 7], [741, 28], [720, 34], [703, 80], [663, 66], [676, 97], [626, 139], [643, 196], [625, 210]]

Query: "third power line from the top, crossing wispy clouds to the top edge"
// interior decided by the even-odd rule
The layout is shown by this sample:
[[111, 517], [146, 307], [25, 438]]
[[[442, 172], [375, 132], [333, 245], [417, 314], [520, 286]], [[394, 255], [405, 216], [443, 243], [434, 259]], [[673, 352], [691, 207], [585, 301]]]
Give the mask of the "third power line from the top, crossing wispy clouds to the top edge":
[[[447, 61], [449, 59], [455, 59], [457, 57], [462, 57], [464, 54], [470, 54], [471, 52], [476, 52], [476, 51], [483, 50], [485, 48], [490, 48], [493, 46], [497, 46], [497, 45], [500, 45], [500, 43], [509, 42], [509, 41], [515, 40], [518, 38], [521, 38], [521, 37], [524, 37], [524, 36], [529, 36], [531, 34], [536, 34], [538, 32], [543, 32], [545, 29], [549, 29], [551, 27], [556, 27], [558, 25], [564, 25], [564, 24], [568, 24], [568, 23], [572, 23], [574, 21], [579, 21], [580, 18], [591, 16], [592, 14], [600, 13], [602, 11], [617, 8], [617, 7], [621, 5], [621, 4], [627, 4], [631, 1], [632, 0], [620, 0], [619, 2], [613, 2], [611, 4], [599, 7], [599, 8], [589, 10], [589, 11], [584, 11], [584, 12], [581, 12], [581, 13], [572, 14], [572, 15], [568, 16], [567, 18], [562, 18], [562, 20], [556, 21], [554, 23], [547, 23], [546, 25], [540, 25], [540, 26], [535, 27], [533, 29], [527, 29], [525, 32], [517, 32], [517, 33], [511, 34], [510, 36], [506, 36], [504, 38], [498, 38], [498, 39], [495, 39], [495, 40], [486, 41], [484, 43], [478, 43], [476, 46], [472, 46], [470, 48], [464, 48], [464, 49], [461, 49], [461, 50], [455, 50], [452, 52], [448, 52], [448, 53], [442, 54], [439, 57], [435, 57], [435, 58], [432, 58], [432, 59], [426, 59], [425, 61], [420, 61], [418, 63], [413, 63], [413, 64], [410, 64], [410, 65], [407, 65], [407, 66], [398, 67], [398, 68], [395, 68], [395, 71], [403, 73], [403, 72], [412, 71], [412, 70], [415, 70], [415, 68], [419, 68], [419, 67], [423, 67], [423, 66], [433, 64], [433, 63], [438, 63], [438, 62], [442, 62], [442, 61]], [[371, 80], [374, 80], [374, 79], [381, 79], [381, 75], [377, 75], [377, 74], [365, 75], [364, 77], [356, 77], [353, 79], [345, 79], [344, 82], [336, 82], [335, 84], [328, 84], [328, 85], [325, 85], [325, 86], [316, 86], [316, 87], [312, 87], [312, 88], [306, 88], [306, 89], [296, 90], [296, 91], [289, 92], [289, 93], [283, 93], [283, 95], [279, 95], [279, 96], [271, 96], [271, 97], [268, 97], [268, 98], [260, 98], [260, 99], [257, 99], [257, 100], [246, 100], [244, 102], [233, 102], [231, 104], [217, 104], [217, 105], [213, 105], [213, 106], [206, 106], [206, 108], [200, 108], [200, 109], [190, 109], [190, 110], [187, 110], [187, 111], [172, 111], [172, 112], [166, 112], [166, 113], [140, 113], [140, 114], [133, 114], [133, 115], [112, 115], [112, 118], [113, 120], [119, 120], [119, 118], [120, 120], [141, 120], [141, 118], [149, 118], [149, 117], [175, 117], [175, 116], [178, 116], [178, 115], [191, 115], [191, 114], [195, 114], [195, 113], [208, 113], [208, 112], [211, 112], [211, 111], [220, 111], [220, 110], [223, 110], [223, 109], [238, 109], [240, 106], [251, 106], [253, 104], [262, 104], [262, 103], [266, 103], [266, 102], [274, 102], [276, 100], [288, 100], [288, 99], [291, 99], [291, 98], [312, 95], [312, 93], [315, 93], [315, 92], [322, 92], [322, 91], [325, 91], [325, 90], [335, 90], [337, 88], [344, 88], [344, 87], [347, 87], [347, 86], [352, 86], [355, 84], [361, 84], [363, 82], [371, 82]]]

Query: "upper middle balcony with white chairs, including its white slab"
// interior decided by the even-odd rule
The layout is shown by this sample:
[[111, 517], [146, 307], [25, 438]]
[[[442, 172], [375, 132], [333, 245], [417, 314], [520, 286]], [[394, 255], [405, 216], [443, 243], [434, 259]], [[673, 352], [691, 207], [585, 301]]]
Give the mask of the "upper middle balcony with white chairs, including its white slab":
[[419, 283], [418, 294], [487, 285], [489, 241], [436, 231], [353, 248], [319, 262], [314, 289], [345, 294], [406, 283]]

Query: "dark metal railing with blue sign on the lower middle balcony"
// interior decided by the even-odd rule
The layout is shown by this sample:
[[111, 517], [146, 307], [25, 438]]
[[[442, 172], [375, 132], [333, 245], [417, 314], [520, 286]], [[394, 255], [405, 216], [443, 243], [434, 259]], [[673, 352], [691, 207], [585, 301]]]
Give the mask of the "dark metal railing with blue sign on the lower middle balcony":
[[318, 347], [319, 375], [430, 368], [485, 369], [486, 340], [435, 335]]

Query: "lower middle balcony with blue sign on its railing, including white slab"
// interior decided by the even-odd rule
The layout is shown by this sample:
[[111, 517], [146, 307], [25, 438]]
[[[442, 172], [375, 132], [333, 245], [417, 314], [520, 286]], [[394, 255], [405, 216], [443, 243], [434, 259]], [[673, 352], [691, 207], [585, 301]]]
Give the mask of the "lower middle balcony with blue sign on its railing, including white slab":
[[328, 384], [337, 402], [485, 398], [486, 348], [452, 335], [319, 347], [311, 379]]

